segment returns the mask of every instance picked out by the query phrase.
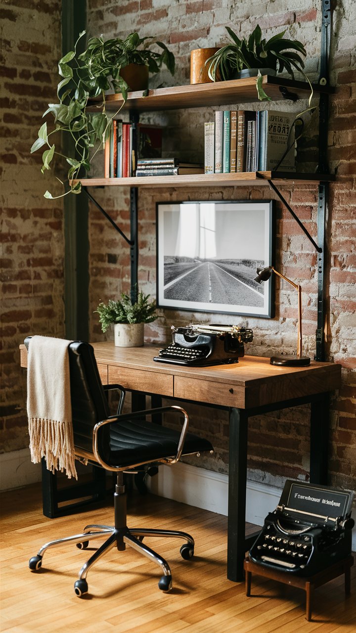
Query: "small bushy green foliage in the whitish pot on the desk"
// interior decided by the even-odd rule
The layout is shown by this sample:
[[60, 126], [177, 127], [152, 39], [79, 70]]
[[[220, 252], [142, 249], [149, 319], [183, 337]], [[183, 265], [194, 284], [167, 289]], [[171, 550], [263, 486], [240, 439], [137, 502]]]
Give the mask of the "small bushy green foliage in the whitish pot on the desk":
[[149, 301], [149, 294], [142, 291], [136, 303], [132, 303], [129, 295], [122, 294], [119, 301], [109, 299], [107, 304], [101, 301], [95, 312], [104, 333], [111, 323], [152, 323], [157, 318], [155, 301]]

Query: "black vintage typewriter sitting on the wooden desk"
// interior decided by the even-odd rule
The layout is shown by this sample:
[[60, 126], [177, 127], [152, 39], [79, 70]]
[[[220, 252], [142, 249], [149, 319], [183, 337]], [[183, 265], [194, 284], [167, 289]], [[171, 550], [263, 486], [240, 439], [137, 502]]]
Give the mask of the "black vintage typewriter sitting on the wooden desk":
[[253, 339], [252, 330], [236, 325], [190, 323], [171, 330], [172, 343], [153, 358], [159, 363], [193, 367], [238, 363], [245, 354], [244, 343]]

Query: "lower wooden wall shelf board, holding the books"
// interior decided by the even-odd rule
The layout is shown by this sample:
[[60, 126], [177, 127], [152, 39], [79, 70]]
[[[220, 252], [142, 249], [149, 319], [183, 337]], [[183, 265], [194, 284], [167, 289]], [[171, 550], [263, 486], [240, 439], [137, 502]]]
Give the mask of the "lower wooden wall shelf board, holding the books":
[[276, 184], [298, 182], [330, 182], [335, 180], [330, 173], [295, 173], [295, 172], [245, 172], [245, 173], [196, 173], [184, 176], [144, 176], [134, 178], [83, 178], [73, 180], [73, 184], [81, 182], [84, 187], [216, 187], [227, 185], [268, 185], [273, 180]]

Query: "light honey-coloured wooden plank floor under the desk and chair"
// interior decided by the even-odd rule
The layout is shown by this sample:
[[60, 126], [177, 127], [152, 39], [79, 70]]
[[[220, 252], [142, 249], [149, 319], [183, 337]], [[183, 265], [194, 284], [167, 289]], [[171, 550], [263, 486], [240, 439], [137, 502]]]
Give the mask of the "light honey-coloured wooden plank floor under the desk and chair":
[[[312, 622], [305, 620], [305, 594], [258, 577], [251, 598], [245, 585], [226, 579], [226, 517], [154, 496], [130, 494], [131, 527], [191, 532], [195, 556], [182, 560], [175, 539], [149, 539], [170, 563], [174, 589], [157, 586], [160, 569], [132, 549], [111, 551], [87, 575], [89, 594], [73, 584], [89, 557], [73, 545], [46, 552], [39, 572], [28, 560], [45, 542], [81, 532], [87, 523], [111, 525], [110, 501], [96, 510], [58, 519], [43, 517], [41, 490], [30, 486], [1, 496], [1, 631], [11, 633], [341, 633], [356, 630], [356, 565], [345, 599], [343, 578], [315, 591]], [[92, 541], [94, 544], [95, 541]], [[92, 551], [89, 549], [89, 552]]]

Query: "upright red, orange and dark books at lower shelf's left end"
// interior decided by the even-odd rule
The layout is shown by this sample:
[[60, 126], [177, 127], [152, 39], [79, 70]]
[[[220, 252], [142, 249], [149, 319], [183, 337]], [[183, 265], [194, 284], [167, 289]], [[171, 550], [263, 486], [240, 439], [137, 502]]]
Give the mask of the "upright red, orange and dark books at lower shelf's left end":
[[105, 142], [105, 178], [134, 176], [140, 158], [162, 156], [162, 128], [114, 119], [110, 138]]

